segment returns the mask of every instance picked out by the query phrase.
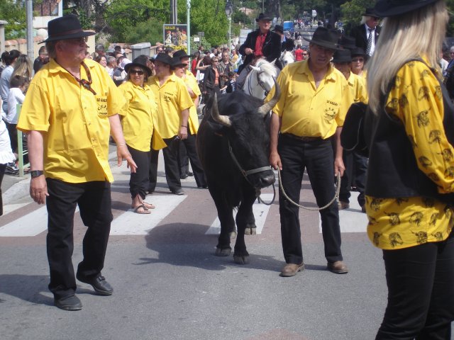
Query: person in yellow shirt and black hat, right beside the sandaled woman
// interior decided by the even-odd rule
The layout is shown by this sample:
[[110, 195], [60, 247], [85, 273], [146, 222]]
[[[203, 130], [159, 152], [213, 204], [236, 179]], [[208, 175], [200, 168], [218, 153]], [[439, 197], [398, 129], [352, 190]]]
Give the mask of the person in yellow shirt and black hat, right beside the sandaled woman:
[[[189, 96], [187, 87], [182, 79], [172, 73], [172, 57], [160, 53], [155, 59], [155, 76], [148, 81], [157, 103], [157, 124], [156, 130], [164, 139], [167, 147], [162, 149], [165, 162], [165, 177], [167, 185], [175, 195], [184, 195], [182, 184], [179, 178], [178, 148], [180, 140], [189, 140], [194, 137], [189, 132], [189, 108], [192, 98]], [[194, 137], [195, 139], [195, 137]], [[187, 145], [186, 145], [187, 146]], [[195, 142], [194, 142], [195, 146]], [[157, 179], [158, 151], [152, 150], [150, 166], [150, 185], [148, 192], [153, 192]], [[193, 169], [196, 171], [196, 169]], [[203, 171], [201, 173], [203, 175]], [[195, 175], [196, 179], [198, 174]], [[204, 176], [201, 176], [204, 178]], [[197, 183], [198, 186], [206, 185]]]

